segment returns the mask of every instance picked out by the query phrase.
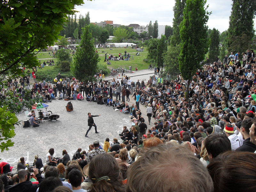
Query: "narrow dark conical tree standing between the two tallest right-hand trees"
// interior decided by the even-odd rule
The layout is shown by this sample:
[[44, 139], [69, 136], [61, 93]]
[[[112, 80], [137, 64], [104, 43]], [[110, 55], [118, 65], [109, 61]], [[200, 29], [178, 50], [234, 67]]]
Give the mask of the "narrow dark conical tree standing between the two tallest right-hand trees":
[[213, 63], [220, 54], [220, 32], [213, 28], [210, 34], [209, 60]]

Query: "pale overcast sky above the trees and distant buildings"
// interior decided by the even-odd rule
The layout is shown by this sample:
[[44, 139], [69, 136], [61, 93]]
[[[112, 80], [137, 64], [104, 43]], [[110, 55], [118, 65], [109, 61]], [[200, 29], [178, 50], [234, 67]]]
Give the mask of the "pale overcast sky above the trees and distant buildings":
[[[76, 6], [77, 15], [90, 12], [91, 22], [113, 20], [114, 24], [147, 25], [158, 21], [158, 25], [172, 26], [174, 0], [84, 0], [82, 6]], [[220, 32], [228, 29], [232, 0], [208, 0], [208, 27], [217, 28]], [[77, 16], [78, 17], [78, 16]], [[256, 19], [254, 19], [254, 24]], [[255, 25], [254, 25], [255, 26]]]

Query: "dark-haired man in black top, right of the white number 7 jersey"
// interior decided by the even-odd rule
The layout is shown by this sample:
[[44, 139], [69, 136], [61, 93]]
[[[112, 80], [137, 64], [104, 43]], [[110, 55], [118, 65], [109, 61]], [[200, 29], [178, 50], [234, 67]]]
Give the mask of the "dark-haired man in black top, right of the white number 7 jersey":
[[256, 145], [253, 144], [250, 140], [250, 128], [252, 127], [252, 119], [246, 118], [242, 121], [241, 131], [242, 137], [244, 139], [243, 145], [236, 148], [236, 151], [248, 151], [254, 153], [256, 150]]

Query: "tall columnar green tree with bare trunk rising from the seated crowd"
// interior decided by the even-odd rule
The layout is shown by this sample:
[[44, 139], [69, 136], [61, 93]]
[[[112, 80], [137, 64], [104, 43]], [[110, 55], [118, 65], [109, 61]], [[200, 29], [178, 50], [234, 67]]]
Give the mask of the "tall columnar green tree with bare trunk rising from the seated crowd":
[[182, 77], [188, 80], [186, 98], [188, 99], [188, 88], [192, 76], [201, 66], [204, 55], [208, 51], [207, 21], [209, 12], [204, 8], [206, 0], [187, 0], [184, 8], [183, 20], [180, 24], [180, 57], [179, 69]]

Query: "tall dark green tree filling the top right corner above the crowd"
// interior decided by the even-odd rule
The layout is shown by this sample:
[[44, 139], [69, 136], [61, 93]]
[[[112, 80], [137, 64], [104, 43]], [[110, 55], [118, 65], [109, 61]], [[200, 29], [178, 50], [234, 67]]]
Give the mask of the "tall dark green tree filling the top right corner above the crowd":
[[[254, 36], [255, 30], [253, 25], [253, 19], [256, 14], [256, 1], [255, 0], [233, 0], [232, 11], [229, 17], [229, 28], [228, 28], [228, 41], [227, 46], [229, 51], [237, 52], [247, 50], [252, 44], [252, 37]], [[234, 41], [239, 39], [242, 34], [246, 36], [249, 41], [243, 39], [241, 44], [233, 44]], [[246, 42], [246, 43], [245, 43]], [[236, 45], [241, 48], [238, 50], [231, 49]]]

